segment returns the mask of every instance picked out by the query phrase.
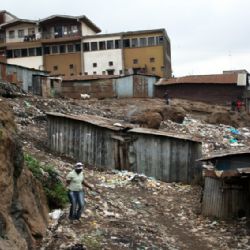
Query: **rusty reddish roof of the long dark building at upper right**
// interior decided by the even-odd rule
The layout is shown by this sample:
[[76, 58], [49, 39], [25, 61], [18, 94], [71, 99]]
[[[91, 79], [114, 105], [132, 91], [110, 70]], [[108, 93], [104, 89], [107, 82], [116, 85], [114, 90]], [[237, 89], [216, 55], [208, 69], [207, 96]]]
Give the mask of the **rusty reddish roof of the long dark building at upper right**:
[[169, 79], [160, 79], [155, 85], [168, 84], [237, 84], [238, 74], [218, 74], [218, 75], [191, 75], [183, 77], [174, 77]]

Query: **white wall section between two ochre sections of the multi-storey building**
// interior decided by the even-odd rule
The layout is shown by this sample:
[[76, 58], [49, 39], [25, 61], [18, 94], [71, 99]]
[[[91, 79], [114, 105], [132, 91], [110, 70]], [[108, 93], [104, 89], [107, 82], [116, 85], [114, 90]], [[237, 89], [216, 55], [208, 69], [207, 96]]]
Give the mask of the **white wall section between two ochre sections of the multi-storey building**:
[[[109, 40], [119, 40], [121, 37], [97, 37], [84, 39], [83, 42], [100, 42]], [[106, 49], [97, 51], [87, 51], [83, 53], [84, 71], [89, 75], [93, 75], [96, 72], [97, 75], [102, 75], [103, 71], [107, 69], [114, 69], [114, 74], [119, 75], [120, 70], [123, 70], [122, 63], [122, 49]], [[109, 62], [113, 62], [113, 66], [109, 66]], [[93, 67], [93, 63], [97, 63], [97, 67]], [[124, 72], [123, 72], [124, 73]], [[107, 74], [107, 71], [106, 71]]]

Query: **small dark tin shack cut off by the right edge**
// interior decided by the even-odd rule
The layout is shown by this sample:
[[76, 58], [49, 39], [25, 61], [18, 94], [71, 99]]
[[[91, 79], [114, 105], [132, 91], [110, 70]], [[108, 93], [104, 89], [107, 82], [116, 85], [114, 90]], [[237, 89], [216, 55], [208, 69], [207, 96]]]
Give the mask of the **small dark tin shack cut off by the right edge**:
[[250, 216], [250, 152], [202, 158], [202, 214], [221, 219]]

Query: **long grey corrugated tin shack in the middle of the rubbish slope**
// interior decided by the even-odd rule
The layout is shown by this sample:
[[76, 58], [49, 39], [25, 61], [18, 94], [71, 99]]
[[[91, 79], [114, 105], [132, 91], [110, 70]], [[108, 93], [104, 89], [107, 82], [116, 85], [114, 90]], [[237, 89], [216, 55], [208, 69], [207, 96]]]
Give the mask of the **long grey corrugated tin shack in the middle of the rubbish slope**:
[[97, 116], [48, 113], [51, 150], [101, 169], [128, 170], [166, 182], [201, 178], [201, 142]]

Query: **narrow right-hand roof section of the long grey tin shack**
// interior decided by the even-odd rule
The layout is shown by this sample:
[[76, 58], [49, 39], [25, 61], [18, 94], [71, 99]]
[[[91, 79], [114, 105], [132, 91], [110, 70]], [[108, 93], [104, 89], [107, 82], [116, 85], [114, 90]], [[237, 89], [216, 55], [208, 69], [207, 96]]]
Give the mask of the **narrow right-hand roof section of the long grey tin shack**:
[[175, 139], [180, 139], [180, 140], [187, 140], [187, 141], [192, 141], [192, 142], [200, 142], [201, 140], [196, 139], [191, 136], [186, 136], [186, 135], [176, 135], [174, 133], [169, 133], [165, 131], [160, 131], [156, 129], [149, 129], [149, 128], [133, 128], [130, 129], [128, 132], [131, 133], [138, 133], [138, 134], [150, 134], [150, 135], [158, 135], [158, 136], [165, 136], [165, 137], [172, 137]]

